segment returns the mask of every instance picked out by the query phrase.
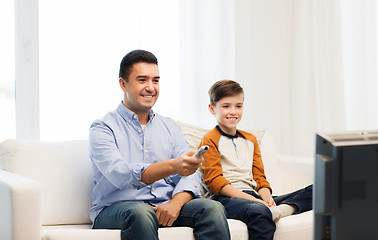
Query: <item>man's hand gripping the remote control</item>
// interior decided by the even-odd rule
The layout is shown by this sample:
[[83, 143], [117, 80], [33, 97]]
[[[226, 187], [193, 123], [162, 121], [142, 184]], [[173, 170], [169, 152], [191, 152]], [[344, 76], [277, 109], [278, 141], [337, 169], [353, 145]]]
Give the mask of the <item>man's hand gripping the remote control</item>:
[[185, 177], [197, 171], [197, 169], [201, 166], [203, 158], [192, 157], [195, 152], [196, 151], [193, 150], [174, 159], [173, 167], [177, 174]]

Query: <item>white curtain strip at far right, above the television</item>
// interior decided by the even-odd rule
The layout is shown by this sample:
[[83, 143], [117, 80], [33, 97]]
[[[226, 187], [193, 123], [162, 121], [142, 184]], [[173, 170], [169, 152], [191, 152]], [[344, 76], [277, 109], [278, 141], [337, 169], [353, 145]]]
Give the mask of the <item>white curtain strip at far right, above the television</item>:
[[341, 1], [348, 129], [378, 129], [377, 7], [375, 0]]

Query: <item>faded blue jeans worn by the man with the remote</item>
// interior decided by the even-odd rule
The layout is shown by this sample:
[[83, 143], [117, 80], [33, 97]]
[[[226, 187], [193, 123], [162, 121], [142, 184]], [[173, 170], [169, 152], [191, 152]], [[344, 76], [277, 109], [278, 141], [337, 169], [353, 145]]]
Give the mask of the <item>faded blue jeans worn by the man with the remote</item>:
[[[172, 226], [192, 227], [196, 239], [230, 239], [222, 204], [209, 199], [186, 203]], [[141, 202], [117, 202], [104, 208], [94, 220], [93, 228], [121, 229], [122, 240], [159, 239], [159, 220], [154, 210]]]

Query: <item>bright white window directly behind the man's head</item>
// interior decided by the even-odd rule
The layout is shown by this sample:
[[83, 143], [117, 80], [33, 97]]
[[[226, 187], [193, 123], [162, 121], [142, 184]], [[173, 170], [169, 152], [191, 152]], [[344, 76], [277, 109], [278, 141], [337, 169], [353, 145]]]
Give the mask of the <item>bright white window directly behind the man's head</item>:
[[157, 56], [162, 90], [154, 109], [177, 118], [178, 4], [40, 0], [41, 140], [87, 138], [90, 124], [122, 100], [119, 63], [133, 49]]

